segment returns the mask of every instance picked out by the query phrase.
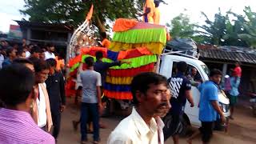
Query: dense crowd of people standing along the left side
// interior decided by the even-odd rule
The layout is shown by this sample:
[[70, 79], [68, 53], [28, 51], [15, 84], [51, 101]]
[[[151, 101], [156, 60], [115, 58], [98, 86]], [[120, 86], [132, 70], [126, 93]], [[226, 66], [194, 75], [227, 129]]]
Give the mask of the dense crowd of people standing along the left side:
[[66, 96], [64, 62], [55, 56], [54, 45], [2, 42], [1, 57], [0, 122], [6, 127], [0, 128], [0, 143], [57, 142]]

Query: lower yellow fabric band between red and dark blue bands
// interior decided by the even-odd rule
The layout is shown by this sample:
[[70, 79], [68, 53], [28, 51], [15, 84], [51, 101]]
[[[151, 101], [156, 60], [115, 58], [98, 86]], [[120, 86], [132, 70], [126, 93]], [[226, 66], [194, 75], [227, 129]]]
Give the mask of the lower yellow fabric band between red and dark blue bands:
[[114, 85], [130, 85], [133, 77], [110, 77], [106, 76], [106, 82]]

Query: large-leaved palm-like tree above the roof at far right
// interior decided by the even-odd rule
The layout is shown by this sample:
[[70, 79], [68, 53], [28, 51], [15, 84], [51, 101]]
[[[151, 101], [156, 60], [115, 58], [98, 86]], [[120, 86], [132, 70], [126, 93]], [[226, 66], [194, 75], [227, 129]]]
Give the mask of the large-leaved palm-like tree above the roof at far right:
[[242, 23], [245, 22], [242, 18], [230, 20], [229, 14], [234, 14], [229, 10], [225, 15], [218, 10], [214, 15], [214, 21], [210, 21], [206, 14], [202, 15], [206, 18], [206, 24], [197, 26], [198, 34], [204, 38], [204, 42], [216, 46], [248, 46], [244, 39], [239, 37], [243, 33]]

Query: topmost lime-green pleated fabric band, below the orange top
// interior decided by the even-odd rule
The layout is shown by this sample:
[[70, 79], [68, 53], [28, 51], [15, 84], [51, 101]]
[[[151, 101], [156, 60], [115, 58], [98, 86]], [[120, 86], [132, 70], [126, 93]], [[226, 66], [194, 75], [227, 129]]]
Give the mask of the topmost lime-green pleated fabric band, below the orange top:
[[161, 42], [163, 45], [166, 45], [166, 29], [155, 28], [115, 32], [112, 41], [123, 43]]

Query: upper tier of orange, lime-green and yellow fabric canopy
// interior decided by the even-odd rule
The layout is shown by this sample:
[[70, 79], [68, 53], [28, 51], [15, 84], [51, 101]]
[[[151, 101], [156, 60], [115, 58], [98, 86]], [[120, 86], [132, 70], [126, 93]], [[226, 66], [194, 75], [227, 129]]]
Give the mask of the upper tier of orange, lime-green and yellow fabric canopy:
[[[132, 22], [129, 19], [122, 19], [118, 20], [115, 25], [126, 26], [123, 23]], [[127, 24], [126, 29], [114, 30], [110, 50], [120, 51], [146, 47], [153, 54], [162, 54], [168, 39], [170, 35], [165, 26], [137, 22], [136, 25]]]

